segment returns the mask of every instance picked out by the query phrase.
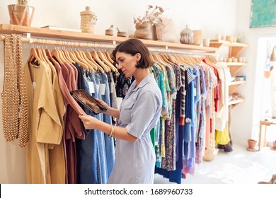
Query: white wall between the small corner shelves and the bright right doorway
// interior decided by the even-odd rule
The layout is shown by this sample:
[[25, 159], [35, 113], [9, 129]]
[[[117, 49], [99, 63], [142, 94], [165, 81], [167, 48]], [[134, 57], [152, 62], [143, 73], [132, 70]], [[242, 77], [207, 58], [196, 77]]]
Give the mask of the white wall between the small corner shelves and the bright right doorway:
[[246, 139], [258, 140], [259, 133], [263, 64], [257, 62], [258, 38], [275, 37], [276, 28], [249, 28], [251, 0], [238, 1], [237, 5], [236, 34], [244, 33], [242, 42], [248, 43], [249, 47], [242, 52], [242, 56], [248, 59], [248, 66], [240, 71], [246, 74], [247, 82], [238, 89], [246, 102], [232, 111], [232, 132], [234, 142], [247, 145]]

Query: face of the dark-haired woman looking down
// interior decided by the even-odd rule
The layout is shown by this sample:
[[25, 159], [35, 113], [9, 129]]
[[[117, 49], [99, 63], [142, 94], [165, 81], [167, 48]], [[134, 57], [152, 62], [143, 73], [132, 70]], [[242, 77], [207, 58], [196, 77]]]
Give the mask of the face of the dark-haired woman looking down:
[[122, 70], [127, 78], [133, 76], [137, 70], [136, 64], [139, 62], [140, 56], [139, 53], [132, 56], [132, 54], [125, 52], [116, 52], [117, 68]]

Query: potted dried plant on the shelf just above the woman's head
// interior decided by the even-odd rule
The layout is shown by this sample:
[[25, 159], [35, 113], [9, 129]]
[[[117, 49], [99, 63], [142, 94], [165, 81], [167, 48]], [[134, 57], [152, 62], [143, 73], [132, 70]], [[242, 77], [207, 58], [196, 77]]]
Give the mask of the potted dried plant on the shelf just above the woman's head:
[[163, 13], [163, 8], [160, 6], [148, 6], [144, 16], [139, 16], [133, 18], [135, 24], [134, 37], [151, 40], [151, 26], [156, 23], [162, 23], [161, 15]]

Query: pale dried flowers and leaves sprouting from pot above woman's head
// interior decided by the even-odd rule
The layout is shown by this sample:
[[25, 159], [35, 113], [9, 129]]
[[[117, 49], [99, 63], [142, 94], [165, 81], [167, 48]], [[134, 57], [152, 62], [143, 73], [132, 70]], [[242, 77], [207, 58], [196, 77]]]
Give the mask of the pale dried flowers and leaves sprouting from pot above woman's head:
[[160, 16], [164, 12], [163, 8], [160, 6], [148, 6], [148, 9], [146, 10], [144, 16], [139, 16], [134, 19], [134, 24], [136, 23], [151, 23], [151, 25], [154, 25], [156, 23], [162, 23], [162, 19]]

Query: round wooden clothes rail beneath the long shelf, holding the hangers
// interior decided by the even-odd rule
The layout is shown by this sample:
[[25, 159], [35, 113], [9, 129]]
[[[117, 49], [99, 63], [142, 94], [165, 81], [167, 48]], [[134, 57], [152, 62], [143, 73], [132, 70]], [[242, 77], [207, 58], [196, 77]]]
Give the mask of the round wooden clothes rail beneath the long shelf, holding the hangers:
[[[1, 35], [0, 40], [4, 41], [5, 36]], [[103, 42], [76, 42], [70, 40], [49, 40], [45, 38], [31, 38], [30, 36], [21, 37], [21, 41], [23, 43], [29, 44], [42, 44], [42, 45], [59, 45], [66, 47], [87, 47], [87, 48], [100, 48], [100, 49], [114, 49], [116, 47], [116, 42], [113, 41], [113, 45], [103, 43]], [[219, 56], [218, 53], [212, 52], [202, 52], [197, 50], [171, 50], [166, 46], [165, 49], [161, 49], [160, 47], [148, 47], [149, 52], [159, 52], [164, 54], [181, 54], [188, 56]]]

